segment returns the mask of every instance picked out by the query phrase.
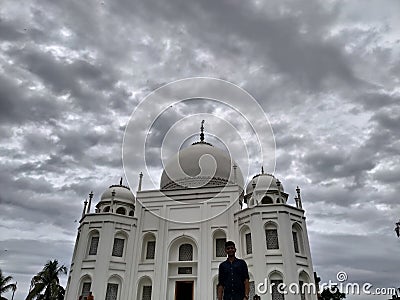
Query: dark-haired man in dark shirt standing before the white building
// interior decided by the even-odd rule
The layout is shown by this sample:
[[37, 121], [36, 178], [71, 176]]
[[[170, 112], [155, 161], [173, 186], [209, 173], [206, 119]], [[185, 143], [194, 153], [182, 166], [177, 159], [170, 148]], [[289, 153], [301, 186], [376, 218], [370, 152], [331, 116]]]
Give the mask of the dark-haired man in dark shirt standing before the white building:
[[232, 241], [225, 243], [226, 261], [219, 265], [218, 300], [249, 300], [249, 271], [243, 259], [235, 257]]

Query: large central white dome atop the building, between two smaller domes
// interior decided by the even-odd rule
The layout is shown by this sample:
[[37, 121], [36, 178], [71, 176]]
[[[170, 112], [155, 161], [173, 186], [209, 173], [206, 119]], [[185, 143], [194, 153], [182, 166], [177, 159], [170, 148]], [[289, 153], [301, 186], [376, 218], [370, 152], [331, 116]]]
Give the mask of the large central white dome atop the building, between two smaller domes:
[[243, 175], [229, 154], [209, 143], [197, 142], [167, 161], [160, 188], [174, 190], [235, 183], [243, 187]]

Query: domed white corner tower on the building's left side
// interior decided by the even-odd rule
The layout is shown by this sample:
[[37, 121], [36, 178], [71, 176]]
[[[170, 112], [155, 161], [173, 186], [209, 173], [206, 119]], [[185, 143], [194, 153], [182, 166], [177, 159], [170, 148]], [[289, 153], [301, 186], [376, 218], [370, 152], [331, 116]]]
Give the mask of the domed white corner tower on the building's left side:
[[[91, 202], [93, 194], [90, 194]], [[102, 194], [95, 212], [90, 205], [79, 221], [78, 234], [67, 282], [65, 299], [127, 299], [134, 264], [137, 218], [135, 196], [129, 187], [111, 185]]]

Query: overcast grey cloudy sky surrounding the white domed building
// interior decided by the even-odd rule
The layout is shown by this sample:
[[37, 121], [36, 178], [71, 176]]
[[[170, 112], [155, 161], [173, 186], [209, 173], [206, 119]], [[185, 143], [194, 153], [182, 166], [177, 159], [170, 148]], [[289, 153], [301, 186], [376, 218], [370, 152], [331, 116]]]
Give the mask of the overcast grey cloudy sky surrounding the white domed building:
[[[16, 299], [47, 260], [69, 266], [84, 198], [123, 174], [139, 101], [192, 76], [237, 84], [267, 113], [322, 282], [345, 271], [400, 286], [399, 12], [397, 0], [3, 0], [0, 268]], [[185, 109], [155, 132], [218, 107]]]

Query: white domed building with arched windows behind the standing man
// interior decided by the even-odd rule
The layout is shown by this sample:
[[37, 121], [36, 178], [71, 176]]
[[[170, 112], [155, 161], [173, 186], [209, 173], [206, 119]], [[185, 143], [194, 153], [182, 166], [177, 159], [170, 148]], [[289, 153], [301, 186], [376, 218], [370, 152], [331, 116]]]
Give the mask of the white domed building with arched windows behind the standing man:
[[[226, 240], [236, 243], [237, 256], [248, 264], [251, 299], [255, 292], [265, 300], [316, 299], [313, 294], [283, 297], [276, 288], [255, 291], [265, 281], [314, 282], [300, 190], [296, 206], [288, 205], [283, 185], [263, 171], [244, 190], [240, 169], [203, 137], [169, 160], [160, 190], [141, 190], [140, 176], [135, 198], [121, 179], [103, 193], [95, 213], [90, 212], [90, 195], [66, 300], [89, 291], [95, 300], [216, 299]], [[207, 165], [200, 163], [202, 170], [198, 166], [204, 155], [216, 162], [212, 177], [204, 175]]]

